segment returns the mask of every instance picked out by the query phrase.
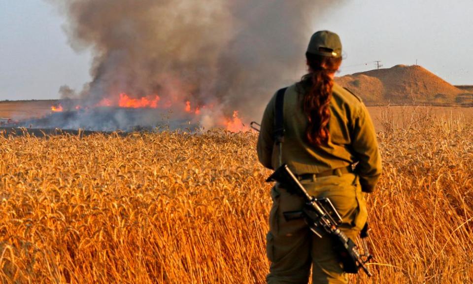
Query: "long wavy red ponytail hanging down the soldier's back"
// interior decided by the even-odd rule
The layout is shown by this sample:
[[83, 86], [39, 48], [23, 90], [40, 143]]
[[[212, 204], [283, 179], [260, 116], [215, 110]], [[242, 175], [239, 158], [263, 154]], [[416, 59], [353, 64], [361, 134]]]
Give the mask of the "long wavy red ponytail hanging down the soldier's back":
[[308, 124], [305, 138], [311, 145], [326, 145], [330, 140], [330, 101], [334, 80], [330, 76], [337, 71], [341, 57], [333, 58], [307, 53], [309, 73], [302, 78], [305, 87], [303, 109]]

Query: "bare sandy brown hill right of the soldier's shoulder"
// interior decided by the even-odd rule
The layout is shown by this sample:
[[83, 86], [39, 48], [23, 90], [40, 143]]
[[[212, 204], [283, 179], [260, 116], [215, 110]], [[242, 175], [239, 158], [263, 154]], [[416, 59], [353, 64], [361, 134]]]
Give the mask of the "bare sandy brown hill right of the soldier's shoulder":
[[396, 65], [338, 77], [336, 81], [359, 95], [367, 105], [472, 104], [473, 93], [457, 88], [421, 66]]

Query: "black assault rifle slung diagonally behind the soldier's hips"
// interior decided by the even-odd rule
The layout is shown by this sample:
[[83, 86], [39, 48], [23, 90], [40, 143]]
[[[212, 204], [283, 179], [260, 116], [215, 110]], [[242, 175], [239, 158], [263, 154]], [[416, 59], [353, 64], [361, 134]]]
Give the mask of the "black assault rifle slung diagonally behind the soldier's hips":
[[338, 229], [338, 225], [341, 224], [342, 220], [328, 198], [316, 199], [311, 197], [286, 164], [279, 167], [266, 181], [277, 181], [289, 193], [297, 194], [304, 198], [305, 206], [303, 211], [284, 212], [286, 220], [304, 218], [310, 230], [320, 238], [322, 238], [324, 232], [329, 234], [345, 272], [358, 273], [358, 270], [361, 268], [369, 277], [372, 276], [370, 270], [365, 265], [371, 260], [372, 255], [369, 252], [365, 252], [362, 257], [356, 244]]

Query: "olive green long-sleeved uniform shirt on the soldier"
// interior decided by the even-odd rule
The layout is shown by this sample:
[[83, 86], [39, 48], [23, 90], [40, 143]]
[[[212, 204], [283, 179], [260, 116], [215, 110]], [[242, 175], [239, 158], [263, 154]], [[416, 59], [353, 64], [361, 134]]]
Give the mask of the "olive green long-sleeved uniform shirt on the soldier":
[[[274, 144], [275, 95], [263, 115], [257, 151], [269, 169], [279, 165], [279, 146]], [[317, 174], [358, 162], [356, 174], [364, 192], [372, 192], [381, 174], [381, 156], [373, 123], [360, 98], [335, 83], [330, 102], [330, 140], [313, 146], [305, 138], [307, 118], [303, 111], [304, 89], [290, 86], [284, 96], [284, 142], [282, 163], [296, 175]]]

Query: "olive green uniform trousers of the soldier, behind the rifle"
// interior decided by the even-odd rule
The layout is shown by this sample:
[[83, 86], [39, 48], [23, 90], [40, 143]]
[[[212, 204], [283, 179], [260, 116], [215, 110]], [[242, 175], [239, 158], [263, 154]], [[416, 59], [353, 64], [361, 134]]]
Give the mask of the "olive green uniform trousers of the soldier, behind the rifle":
[[[365, 225], [368, 213], [365, 193], [355, 174], [344, 174], [302, 180], [314, 197], [327, 197], [342, 217], [342, 230], [355, 240]], [[303, 219], [286, 221], [283, 213], [300, 211], [304, 201], [289, 194], [281, 185], [271, 189], [270, 231], [267, 234], [267, 256], [270, 260], [268, 284], [306, 284], [312, 270], [312, 283], [348, 283], [328, 235], [319, 238]]]

